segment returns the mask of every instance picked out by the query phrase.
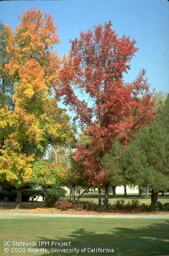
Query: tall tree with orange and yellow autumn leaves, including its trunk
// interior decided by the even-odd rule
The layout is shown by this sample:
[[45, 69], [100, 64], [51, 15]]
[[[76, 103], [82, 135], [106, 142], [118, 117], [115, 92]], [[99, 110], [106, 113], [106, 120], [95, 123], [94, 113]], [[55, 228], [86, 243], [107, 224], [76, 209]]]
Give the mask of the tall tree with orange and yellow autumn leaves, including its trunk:
[[48, 143], [69, 143], [73, 131], [69, 118], [52, 97], [51, 81], [57, 81], [60, 58], [52, 52], [58, 35], [51, 15], [31, 9], [23, 13], [13, 32], [4, 27], [10, 61], [4, 71], [11, 77], [13, 109], [0, 108], [0, 175], [18, 190], [32, 176], [32, 162], [44, 155]]

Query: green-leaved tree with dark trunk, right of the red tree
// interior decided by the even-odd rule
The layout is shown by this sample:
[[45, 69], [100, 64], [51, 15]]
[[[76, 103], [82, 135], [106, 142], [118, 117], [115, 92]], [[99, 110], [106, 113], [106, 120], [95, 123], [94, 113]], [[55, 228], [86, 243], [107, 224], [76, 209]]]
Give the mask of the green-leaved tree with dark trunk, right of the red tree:
[[151, 207], [157, 207], [158, 192], [169, 186], [168, 102], [150, 126], [142, 127], [123, 152], [124, 172], [128, 180], [151, 188]]

